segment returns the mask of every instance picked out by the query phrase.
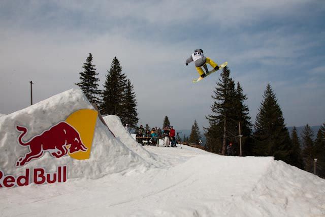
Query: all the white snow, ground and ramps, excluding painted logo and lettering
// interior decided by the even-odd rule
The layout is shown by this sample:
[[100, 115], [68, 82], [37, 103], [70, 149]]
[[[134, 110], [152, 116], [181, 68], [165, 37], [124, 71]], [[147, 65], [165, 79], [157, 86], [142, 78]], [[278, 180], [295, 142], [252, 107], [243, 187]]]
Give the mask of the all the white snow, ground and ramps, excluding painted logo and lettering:
[[[325, 216], [325, 180], [272, 157], [226, 157], [182, 145], [141, 146], [119, 117], [98, 119], [89, 160], [48, 153], [22, 168], [16, 124], [41, 133], [78, 109], [68, 90], [0, 117], [0, 169], [68, 165], [68, 182], [0, 189], [0, 216]], [[16, 147], [17, 146], [17, 147]], [[22, 150], [21, 150], [22, 149]]]

